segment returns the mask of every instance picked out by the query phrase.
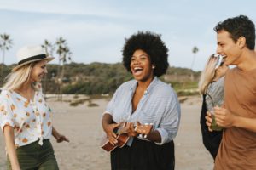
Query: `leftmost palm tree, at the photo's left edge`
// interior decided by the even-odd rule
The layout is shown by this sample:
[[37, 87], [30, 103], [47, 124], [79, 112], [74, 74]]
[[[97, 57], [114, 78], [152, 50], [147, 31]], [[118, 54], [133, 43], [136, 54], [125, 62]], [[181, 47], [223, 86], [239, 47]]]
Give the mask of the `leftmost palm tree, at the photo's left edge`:
[[0, 35], [0, 48], [3, 51], [2, 55], [2, 68], [1, 68], [1, 76], [3, 77], [3, 65], [4, 65], [4, 57], [5, 57], [5, 51], [8, 51], [9, 48], [12, 47], [12, 40], [10, 39], [10, 36], [8, 34], [1, 34]]

